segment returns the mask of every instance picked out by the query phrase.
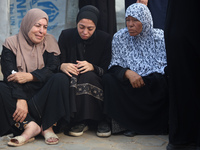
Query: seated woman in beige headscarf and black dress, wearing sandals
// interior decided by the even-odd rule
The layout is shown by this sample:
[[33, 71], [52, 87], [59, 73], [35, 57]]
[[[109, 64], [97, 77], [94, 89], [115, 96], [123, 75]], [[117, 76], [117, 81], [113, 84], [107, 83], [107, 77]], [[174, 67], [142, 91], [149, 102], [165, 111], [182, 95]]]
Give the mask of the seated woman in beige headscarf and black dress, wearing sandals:
[[[24, 16], [19, 33], [3, 45], [0, 82], [0, 136], [20, 135], [8, 145], [21, 146], [42, 132], [47, 144], [57, 144], [52, 126], [61, 118], [69, 121], [69, 104], [63, 101], [62, 74], [58, 70], [60, 50], [47, 34], [48, 16], [31, 9]], [[63, 83], [63, 84], [62, 84]], [[66, 92], [66, 91], [64, 91]]]

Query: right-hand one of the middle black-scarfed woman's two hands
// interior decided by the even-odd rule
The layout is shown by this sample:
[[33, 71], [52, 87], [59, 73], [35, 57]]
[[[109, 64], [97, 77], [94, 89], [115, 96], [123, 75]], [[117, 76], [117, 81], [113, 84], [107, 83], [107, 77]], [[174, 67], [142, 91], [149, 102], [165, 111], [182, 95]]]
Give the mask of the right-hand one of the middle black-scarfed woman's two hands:
[[88, 71], [94, 70], [93, 65], [87, 61], [76, 61], [76, 62], [77, 62], [78, 72], [80, 73], [86, 73]]

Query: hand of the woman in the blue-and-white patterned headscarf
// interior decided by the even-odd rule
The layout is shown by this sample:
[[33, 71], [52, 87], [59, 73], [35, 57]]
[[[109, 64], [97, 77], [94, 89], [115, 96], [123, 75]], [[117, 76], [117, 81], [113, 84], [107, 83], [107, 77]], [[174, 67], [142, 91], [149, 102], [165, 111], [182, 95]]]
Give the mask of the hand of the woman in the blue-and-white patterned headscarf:
[[141, 88], [145, 85], [142, 77], [132, 70], [127, 70], [125, 77], [129, 79], [133, 88]]

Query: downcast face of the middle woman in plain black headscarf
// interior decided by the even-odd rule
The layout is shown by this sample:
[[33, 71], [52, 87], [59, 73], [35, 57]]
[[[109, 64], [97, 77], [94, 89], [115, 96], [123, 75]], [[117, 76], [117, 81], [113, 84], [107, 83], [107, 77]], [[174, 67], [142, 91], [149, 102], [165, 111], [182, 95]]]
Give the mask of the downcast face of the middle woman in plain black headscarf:
[[81, 19], [77, 24], [77, 29], [80, 37], [83, 40], [87, 40], [93, 35], [96, 26], [90, 19]]

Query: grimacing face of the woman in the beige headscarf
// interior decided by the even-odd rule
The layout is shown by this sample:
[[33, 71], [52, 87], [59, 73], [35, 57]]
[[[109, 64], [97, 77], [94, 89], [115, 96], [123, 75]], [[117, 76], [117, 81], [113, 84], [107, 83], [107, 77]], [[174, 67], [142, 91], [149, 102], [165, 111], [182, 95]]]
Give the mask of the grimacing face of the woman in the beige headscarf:
[[28, 33], [28, 37], [34, 44], [38, 44], [44, 40], [44, 37], [47, 33], [47, 20], [40, 19], [35, 25], [31, 28]]

